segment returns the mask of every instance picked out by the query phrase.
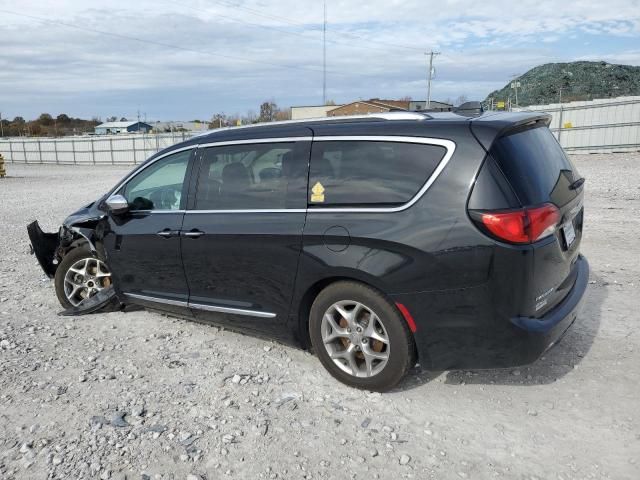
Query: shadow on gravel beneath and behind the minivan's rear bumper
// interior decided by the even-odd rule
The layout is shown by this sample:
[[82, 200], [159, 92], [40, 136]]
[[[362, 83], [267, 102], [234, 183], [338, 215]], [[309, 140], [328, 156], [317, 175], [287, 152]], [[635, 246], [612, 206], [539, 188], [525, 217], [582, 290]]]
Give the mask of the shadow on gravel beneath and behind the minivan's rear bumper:
[[[595, 282], [595, 283], [591, 283]], [[582, 311], [562, 340], [531, 365], [495, 370], [451, 370], [428, 372], [415, 368], [395, 389], [411, 390], [445, 375], [445, 383], [480, 385], [545, 385], [571, 372], [589, 353], [600, 329], [602, 305], [607, 297], [603, 280], [593, 273]]]

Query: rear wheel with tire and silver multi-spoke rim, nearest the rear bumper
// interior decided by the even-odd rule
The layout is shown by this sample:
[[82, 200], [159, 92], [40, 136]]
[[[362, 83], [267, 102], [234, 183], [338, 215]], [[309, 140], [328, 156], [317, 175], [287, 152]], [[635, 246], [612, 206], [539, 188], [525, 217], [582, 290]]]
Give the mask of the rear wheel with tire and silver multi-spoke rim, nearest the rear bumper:
[[388, 391], [416, 363], [413, 335], [398, 309], [361, 283], [339, 281], [322, 290], [311, 306], [309, 334], [322, 365], [352, 387]]

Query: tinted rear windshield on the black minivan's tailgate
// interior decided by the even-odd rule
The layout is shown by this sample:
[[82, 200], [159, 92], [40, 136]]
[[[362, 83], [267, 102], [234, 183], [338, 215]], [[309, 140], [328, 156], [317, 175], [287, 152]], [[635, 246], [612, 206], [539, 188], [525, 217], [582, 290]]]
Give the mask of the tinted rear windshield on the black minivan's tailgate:
[[547, 127], [498, 139], [491, 156], [523, 205], [550, 201], [561, 207], [578, 195], [569, 185], [580, 175]]

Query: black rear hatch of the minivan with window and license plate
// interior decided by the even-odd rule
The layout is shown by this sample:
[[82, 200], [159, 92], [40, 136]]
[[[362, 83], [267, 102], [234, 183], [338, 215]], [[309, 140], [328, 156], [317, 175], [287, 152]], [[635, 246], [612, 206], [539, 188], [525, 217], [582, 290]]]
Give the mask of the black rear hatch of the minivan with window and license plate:
[[557, 208], [546, 236], [534, 239], [531, 296], [521, 315], [540, 317], [562, 301], [575, 282], [582, 239], [584, 179], [541, 122], [507, 131], [490, 157], [511, 185], [520, 205]]

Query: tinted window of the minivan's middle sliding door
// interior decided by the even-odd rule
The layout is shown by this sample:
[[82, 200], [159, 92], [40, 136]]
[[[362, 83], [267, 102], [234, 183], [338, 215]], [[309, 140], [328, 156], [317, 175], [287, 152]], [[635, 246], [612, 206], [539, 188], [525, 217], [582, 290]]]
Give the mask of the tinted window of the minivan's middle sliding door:
[[[271, 143], [212, 147], [204, 151], [196, 210], [304, 207], [307, 147]], [[296, 204], [297, 191], [297, 204]]]

